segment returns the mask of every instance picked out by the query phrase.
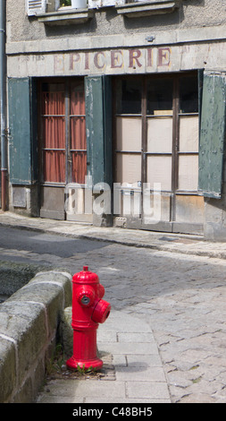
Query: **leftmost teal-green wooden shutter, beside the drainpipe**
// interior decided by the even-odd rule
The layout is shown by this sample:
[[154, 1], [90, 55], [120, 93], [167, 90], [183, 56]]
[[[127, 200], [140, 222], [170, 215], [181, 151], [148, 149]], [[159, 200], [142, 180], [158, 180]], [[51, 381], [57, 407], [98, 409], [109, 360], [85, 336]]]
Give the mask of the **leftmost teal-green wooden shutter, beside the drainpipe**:
[[[9, 160], [10, 181], [17, 185], [30, 185], [35, 181], [37, 130], [32, 124], [35, 113], [30, 78], [9, 79]], [[35, 133], [36, 132], [36, 133]]]

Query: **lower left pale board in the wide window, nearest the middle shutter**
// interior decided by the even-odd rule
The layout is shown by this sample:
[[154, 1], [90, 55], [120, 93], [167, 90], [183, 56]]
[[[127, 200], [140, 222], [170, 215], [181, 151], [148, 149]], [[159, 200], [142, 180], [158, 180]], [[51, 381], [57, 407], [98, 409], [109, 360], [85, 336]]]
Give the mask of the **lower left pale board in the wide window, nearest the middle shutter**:
[[116, 183], [137, 184], [141, 180], [141, 156], [122, 154], [116, 156]]

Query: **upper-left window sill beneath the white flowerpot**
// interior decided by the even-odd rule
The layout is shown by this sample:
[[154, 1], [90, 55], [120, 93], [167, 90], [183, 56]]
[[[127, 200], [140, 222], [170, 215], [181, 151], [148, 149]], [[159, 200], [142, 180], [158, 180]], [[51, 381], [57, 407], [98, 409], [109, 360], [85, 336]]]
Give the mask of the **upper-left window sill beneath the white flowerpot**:
[[92, 19], [94, 11], [90, 9], [71, 9], [71, 7], [63, 7], [52, 13], [38, 14], [38, 21], [46, 23], [46, 25], [65, 25], [74, 23], [84, 23]]

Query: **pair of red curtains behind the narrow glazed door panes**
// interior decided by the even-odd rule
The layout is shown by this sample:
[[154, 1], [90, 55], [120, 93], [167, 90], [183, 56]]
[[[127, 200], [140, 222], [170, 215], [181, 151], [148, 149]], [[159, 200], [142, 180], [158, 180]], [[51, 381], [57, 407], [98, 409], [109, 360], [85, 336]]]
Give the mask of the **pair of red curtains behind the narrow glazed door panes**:
[[[42, 93], [43, 181], [65, 183], [65, 89], [63, 83], [45, 84]], [[87, 140], [83, 84], [70, 90], [71, 182], [83, 184], [87, 174]]]

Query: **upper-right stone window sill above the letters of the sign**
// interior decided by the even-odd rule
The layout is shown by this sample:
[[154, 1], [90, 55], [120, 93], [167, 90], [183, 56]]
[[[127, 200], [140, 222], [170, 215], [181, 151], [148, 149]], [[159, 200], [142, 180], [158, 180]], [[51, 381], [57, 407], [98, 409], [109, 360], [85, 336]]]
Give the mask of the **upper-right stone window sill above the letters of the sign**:
[[179, 0], [159, 0], [149, 2], [136, 2], [115, 6], [118, 14], [128, 18], [137, 18], [141, 16], [150, 16], [153, 14], [172, 13], [179, 7]]

